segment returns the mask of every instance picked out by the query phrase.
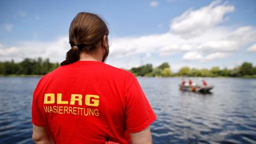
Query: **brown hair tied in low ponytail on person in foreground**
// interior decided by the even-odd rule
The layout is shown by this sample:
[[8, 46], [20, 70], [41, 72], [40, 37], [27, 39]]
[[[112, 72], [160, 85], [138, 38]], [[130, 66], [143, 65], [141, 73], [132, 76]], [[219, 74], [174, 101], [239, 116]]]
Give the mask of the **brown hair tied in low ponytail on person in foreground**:
[[78, 61], [80, 51], [94, 52], [99, 44], [103, 44], [103, 37], [108, 34], [106, 23], [98, 15], [78, 13], [69, 28], [69, 43], [72, 48], [67, 52], [66, 60], [60, 65], [65, 66]]

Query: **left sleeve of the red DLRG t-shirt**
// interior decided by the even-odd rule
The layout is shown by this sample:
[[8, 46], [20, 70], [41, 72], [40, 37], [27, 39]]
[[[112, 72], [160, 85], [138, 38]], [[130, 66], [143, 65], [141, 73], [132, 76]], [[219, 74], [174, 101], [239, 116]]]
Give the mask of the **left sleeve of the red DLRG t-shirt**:
[[44, 127], [45, 126], [44, 118], [43, 118], [41, 111], [38, 108], [38, 105], [37, 105], [38, 85], [39, 85], [39, 82], [38, 82], [36, 89], [34, 90], [34, 93], [33, 93], [32, 108], [31, 108], [31, 122], [36, 126]]

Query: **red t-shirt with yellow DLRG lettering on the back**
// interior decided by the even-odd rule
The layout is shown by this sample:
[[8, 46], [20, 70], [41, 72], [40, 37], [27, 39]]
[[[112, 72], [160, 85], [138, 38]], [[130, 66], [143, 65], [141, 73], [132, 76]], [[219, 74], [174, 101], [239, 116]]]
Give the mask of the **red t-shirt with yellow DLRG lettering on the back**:
[[156, 119], [136, 77], [99, 61], [76, 61], [44, 75], [33, 94], [32, 123], [55, 143], [130, 143]]

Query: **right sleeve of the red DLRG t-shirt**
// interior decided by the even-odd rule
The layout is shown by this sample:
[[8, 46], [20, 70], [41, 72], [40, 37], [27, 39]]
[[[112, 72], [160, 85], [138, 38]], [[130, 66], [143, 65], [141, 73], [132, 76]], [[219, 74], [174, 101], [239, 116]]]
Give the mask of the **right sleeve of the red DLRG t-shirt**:
[[125, 98], [125, 123], [129, 133], [142, 131], [155, 121], [156, 115], [137, 79], [126, 90]]

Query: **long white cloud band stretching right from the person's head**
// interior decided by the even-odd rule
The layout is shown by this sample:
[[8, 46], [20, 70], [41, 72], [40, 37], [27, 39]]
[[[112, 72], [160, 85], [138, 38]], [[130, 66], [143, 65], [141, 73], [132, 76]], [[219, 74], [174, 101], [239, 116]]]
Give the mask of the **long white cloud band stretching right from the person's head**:
[[[237, 28], [240, 29], [240, 28]], [[221, 31], [212, 29], [203, 35], [186, 39], [177, 34], [165, 33], [159, 35], [148, 35], [141, 37], [122, 37], [113, 38], [111, 51], [114, 57], [117, 55], [129, 55], [134, 53], [155, 52], [159, 55], [172, 55], [176, 53], [200, 51], [210, 54], [215, 52], [235, 52], [239, 51], [241, 46], [246, 45], [249, 41], [235, 41], [232, 37], [236, 36], [233, 31], [237, 29], [222, 28]], [[249, 37], [255, 29], [239, 33], [241, 37]], [[232, 37], [231, 37], [232, 36]], [[253, 41], [253, 39], [252, 39]], [[254, 39], [254, 42], [256, 38]]]

